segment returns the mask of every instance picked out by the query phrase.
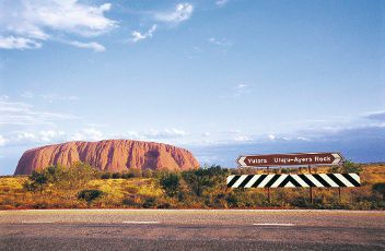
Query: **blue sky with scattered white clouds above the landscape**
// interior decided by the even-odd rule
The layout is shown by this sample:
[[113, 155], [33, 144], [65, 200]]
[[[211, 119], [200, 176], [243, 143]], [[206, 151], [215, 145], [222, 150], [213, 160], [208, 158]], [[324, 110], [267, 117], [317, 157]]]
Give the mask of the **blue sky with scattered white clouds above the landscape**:
[[384, 29], [382, 1], [1, 1], [0, 175], [103, 139], [385, 160]]

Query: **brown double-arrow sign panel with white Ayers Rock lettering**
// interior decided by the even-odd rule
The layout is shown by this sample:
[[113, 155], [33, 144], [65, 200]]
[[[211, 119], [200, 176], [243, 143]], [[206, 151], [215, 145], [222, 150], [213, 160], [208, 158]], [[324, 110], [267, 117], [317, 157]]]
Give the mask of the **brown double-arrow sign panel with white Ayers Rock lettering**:
[[340, 165], [343, 157], [339, 153], [299, 153], [245, 155], [236, 160], [240, 167]]

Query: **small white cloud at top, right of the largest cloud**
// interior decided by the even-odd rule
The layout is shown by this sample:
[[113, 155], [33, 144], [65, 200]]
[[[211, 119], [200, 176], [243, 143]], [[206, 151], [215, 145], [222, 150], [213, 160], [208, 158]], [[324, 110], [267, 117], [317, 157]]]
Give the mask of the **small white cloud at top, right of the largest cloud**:
[[178, 3], [173, 11], [158, 12], [154, 19], [166, 23], [180, 23], [191, 17], [194, 7], [190, 3]]

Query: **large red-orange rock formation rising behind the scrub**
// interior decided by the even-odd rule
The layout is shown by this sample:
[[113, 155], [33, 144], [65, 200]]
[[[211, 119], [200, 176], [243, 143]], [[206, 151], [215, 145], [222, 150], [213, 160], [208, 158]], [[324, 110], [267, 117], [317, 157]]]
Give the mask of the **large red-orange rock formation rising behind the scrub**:
[[188, 170], [199, 167], [190, 152], [173, 145], [106, 140], [68, 142], [26, 151], [20, 158], [15, 175], [30, 175], [51, 165], [70, 166], [83, 162], [103, 171], [125, 171], [129, 168]]

